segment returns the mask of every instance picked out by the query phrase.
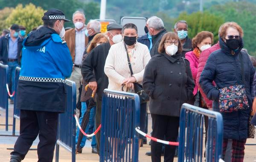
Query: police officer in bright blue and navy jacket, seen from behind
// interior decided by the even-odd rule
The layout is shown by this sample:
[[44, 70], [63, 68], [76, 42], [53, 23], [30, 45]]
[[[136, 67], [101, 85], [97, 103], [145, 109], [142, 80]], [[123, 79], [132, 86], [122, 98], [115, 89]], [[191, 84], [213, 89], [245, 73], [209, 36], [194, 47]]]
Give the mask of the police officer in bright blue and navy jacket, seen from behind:
[[70, 76], [73, 62], [64, 36], [62, 11], [50, 9], [42, 17], [44, 26], [23, 42], [23, 56], [17, 89], [20, 109], [20, 136], [10, 162], [24, 159], [39, 134], [38, 162], [52, 162], [56, 143], [58, 113], [65, 112], [64, 78]]

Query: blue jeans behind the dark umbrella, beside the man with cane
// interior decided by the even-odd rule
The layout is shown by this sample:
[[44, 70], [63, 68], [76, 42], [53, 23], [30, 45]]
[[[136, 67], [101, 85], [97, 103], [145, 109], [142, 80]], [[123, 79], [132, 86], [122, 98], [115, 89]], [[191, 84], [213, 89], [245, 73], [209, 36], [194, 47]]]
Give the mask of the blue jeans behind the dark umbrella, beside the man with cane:
[[[83, 120], [83, 117], [84, 117], [84, 113], [86, 112], [87, 110], [87, 105], [86, 105], [86, 102], [81, 102], [81, 112], [82, 112], [82, 115], [81, 117], [79, 118], [79, 124], [81, 125], [82, 123], [82, 120]], [[87, 127], [85, 128], [84, 132], [85, 133], [88, 133], [88, 129], [90, 128], [91, 124], [94, 125], [94, 120], [95, 120], [95, 106], [90, 110], [90, 118], [89, 118], [89, 122], [87, 124]], [[78, 141], [78, 137], [79, 137], [79, 128], [77, 128], [77, 131], [76, 131], [76, 143]], [[95, 126], [93, 128], [93, 132], [95, 131]], [[84, 145], [85, 145], [85, 142], [86, 142], [86, 139], [87, 137], [83, 136], [82, 138], [82, 141], [81, 141], [81, 144], [80, 144], [80, 147], [83, 148]], [[92, 137], [92, 142], [91, 142], [91, 147], [92, 148], [95, 148], [96, 147], [96, 139], [95, 139], [95, 136]]]

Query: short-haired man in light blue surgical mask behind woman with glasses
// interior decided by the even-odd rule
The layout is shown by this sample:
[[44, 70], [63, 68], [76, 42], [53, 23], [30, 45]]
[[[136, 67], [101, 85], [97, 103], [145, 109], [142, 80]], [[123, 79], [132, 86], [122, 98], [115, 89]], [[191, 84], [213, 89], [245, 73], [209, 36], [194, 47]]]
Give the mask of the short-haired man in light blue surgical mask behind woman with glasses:
[[182, 57], [185, 57], [185, 53], [192, 51], [192, 41], [188, 37], [188, 24], [185, 20], [180, 20], [174, 25], [174, 32], [180, 38], [182, 44]]

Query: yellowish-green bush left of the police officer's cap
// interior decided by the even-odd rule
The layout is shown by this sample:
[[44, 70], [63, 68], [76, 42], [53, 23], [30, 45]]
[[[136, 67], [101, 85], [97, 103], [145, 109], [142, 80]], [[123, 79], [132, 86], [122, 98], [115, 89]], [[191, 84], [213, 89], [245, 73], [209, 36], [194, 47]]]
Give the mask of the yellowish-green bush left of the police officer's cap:
[[23, 25], [26, 27], [26, 31], [29, 32], [33, 28], [43, 24], [41, 18], [44, 12], [41, 7], [35, 7], [32, 3], [29, 3], [25, 7], [19, 4], [9, 17], [7, 17], [6, 24], [9, 26], [12, 24]]

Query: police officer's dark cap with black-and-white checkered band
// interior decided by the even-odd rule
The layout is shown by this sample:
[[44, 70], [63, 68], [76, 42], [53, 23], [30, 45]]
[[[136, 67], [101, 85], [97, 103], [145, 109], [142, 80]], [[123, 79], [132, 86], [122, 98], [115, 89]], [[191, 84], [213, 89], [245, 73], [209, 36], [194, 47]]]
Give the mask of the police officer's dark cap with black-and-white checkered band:
[[44, 13], [44, 16], [42, 17], [42, 20], [64, 20], [64, 21], [70, 21], [67, 20], [65, 17], [65, 14], [58, 9], [52, 8], [49, 9]]

